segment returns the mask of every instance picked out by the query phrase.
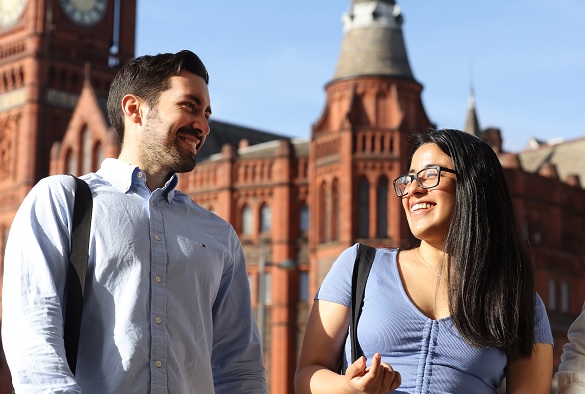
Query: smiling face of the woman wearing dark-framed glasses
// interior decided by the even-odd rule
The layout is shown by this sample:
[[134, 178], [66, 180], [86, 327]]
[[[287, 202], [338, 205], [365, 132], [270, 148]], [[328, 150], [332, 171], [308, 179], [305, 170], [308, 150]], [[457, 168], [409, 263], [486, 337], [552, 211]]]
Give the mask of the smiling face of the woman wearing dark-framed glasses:
[[[454, 169], [453, 161], [436, 144], [421, 145], [412, 156], [409, 174], [416, 174], [430, 166]], [[402, 206], [412, 234], [421, 241], [442, 248], [449, 221], [455, 209], [457, 176], [441, 171], [440, 182], [430, 189], [423, 189], [414, 181], [402, 197]]]

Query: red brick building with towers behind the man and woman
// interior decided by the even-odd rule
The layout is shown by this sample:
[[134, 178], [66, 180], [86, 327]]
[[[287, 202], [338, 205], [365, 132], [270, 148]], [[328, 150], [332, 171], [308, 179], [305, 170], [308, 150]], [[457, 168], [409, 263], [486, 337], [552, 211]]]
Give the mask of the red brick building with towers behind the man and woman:
[[[40, 178], [95, 170], [118, 154], [104, 104], [117, 65], [134, 55], [136, 19], [135, 0], [98, 0], [93, 9], [64, 0], [7, 4], [0, 17], [0, 267], [14, 214]], [[337, 255], [357, 241], [400, 246], [410, 237], [391, 181], [404, 171], [408, 136], [432, 122], [401, 23], [392, 0], [353, 0], [310, 139], [213, 121], [204, 160], [180, 177], [181, 190], [241, 237], [271, 393], [293, 393], [312, 296]], [[506, 167], [558, 364], [585, 300], [585, 139], [506, 153], [500, 131], [482, 130], [475, 111], [470, 106], [465, 128]], [[289, 261], [296, 265], [283, 264]], [[9, 387], [0, 363], [0, 392]]]

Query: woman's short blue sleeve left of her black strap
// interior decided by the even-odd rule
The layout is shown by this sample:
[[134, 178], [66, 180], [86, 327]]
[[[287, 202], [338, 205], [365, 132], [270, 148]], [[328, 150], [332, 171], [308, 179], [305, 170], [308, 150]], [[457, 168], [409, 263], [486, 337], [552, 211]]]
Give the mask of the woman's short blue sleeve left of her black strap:
[[358, 244], [345, 249], [335, 260], [323, 279], [315, 300], [335, 302], [347, 307], [351, 304], [351, 281]]

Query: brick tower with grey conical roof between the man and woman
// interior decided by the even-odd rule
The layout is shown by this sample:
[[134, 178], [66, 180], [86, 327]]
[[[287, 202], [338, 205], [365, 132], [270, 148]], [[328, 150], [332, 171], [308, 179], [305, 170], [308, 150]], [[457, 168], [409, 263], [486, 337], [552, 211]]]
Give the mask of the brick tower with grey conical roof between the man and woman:
[[408, 136], [431, 126], [412, 74], [394, 0], [353, 0], [309, 158], [311, 288], [355, 242], [408, 238], [392, 180], [404, 173]]

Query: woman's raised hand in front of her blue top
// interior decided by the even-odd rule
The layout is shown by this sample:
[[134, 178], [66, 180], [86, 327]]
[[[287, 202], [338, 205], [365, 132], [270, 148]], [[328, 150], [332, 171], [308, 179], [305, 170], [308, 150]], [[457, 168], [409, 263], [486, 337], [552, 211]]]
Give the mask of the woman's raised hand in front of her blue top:
[[346, 383], [351, 392], [386, 394], [396, 390], [401, 383], [400, 373], [382, 362], [379, 353], [374, 354], [372, 365], [366, 367], [366, 358], [360, 357], [345, 371]]

